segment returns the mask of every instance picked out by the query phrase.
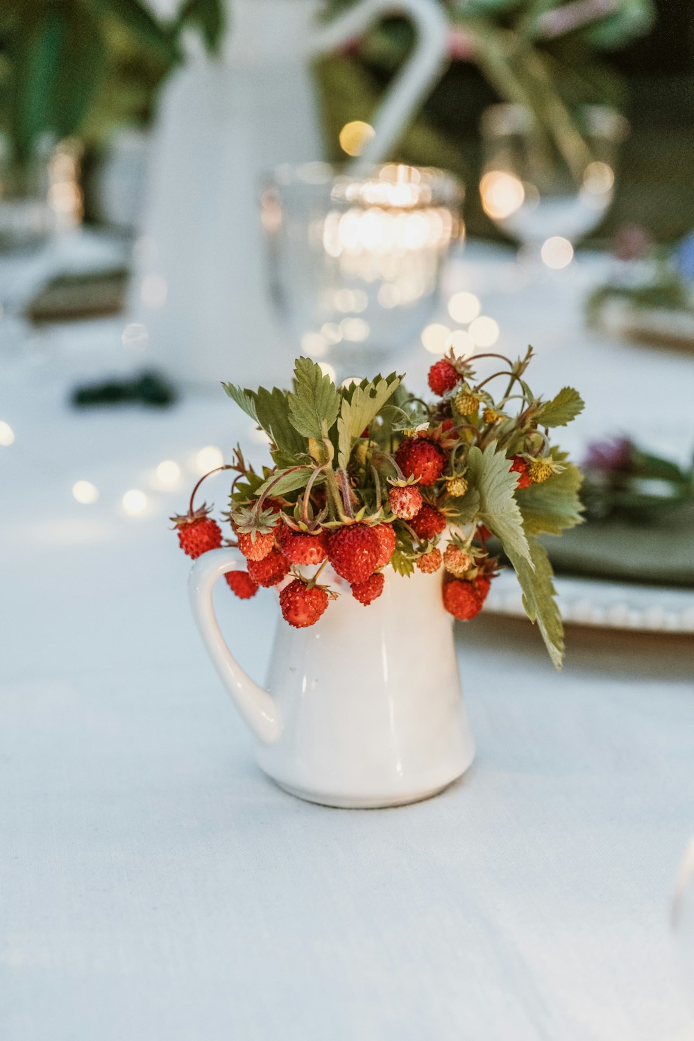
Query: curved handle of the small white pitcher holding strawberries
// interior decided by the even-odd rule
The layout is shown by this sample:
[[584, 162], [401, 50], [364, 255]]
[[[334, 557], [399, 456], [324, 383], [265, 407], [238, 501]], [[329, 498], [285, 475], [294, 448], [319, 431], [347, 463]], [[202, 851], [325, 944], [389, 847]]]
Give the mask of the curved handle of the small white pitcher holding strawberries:
[[212, 603], [216, 580], [227, 572], [245, 568], [245, 557], [232, 547], [203, 553], [190, 568], [188, 598], [203, 643], [229, 696], [256, 737], [268, 744], [282, 730], [277, 705], [267, 691], [243, 671], [229, 651]]

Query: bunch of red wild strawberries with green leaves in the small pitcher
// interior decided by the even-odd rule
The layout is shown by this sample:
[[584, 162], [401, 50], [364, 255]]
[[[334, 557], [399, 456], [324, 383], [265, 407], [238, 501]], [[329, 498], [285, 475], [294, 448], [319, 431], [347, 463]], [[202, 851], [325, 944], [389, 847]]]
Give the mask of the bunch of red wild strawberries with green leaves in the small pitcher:
[[[320, 584], [327, 565], [339, 577], [338, 588], [342, 580], [363, 605], [382, 594], [387, 566], [403, 576], [416, 567], [440, 574], [451, 614], [474, 617], [497, 574], [498, 557], [488, 549], [494, 510], [508, 524], [515, 509], [522, 525], [509, 498], [530, 493], [565, 468], [565, 457], [548, 442], [551, 422], [543, 430], [543, 418], [568, 422], [562, 416], [581, 401], [570, 388], [549, 403], [535, 399], [522, 378], [531, 357], [529, 350], [515, 362], [503, 359], [507, 367], [475, 383], [470, 361], [449, 352], [429, 372], [436, 396], [431, 405], [399, 389], [394, 375], [336, 388], [312, 362], [299, 359], [293, 391], [265, 392], [264, 407], [271, 400], [282, 414], [263, 414], [264, 426], [261, 399], [225, 385], [268, 433], [276, 462], [256, 473], [237, 449], [233, 462], [220, 467], [236, 474], [226, 544], [236, 544], [247, 560], [246, 570], [226, 576], [230, 589], [248, 600], [260, 586], [277, 586], [284, 618], [301, 629], [314, 625], [337, 595]], [[487, 384], [496, 377], [506, 377], [508, 388], [494, 401]], [[316, 400], [327, 413], [320, 424]], [[511, 415], [514, 400], [521, 406]], [[295, 433], [283, 441], [275, 431], [287, 424]], [[480, 462], [489, 453], [493, 481]], [[188, 512], [172, 518], [181, 548], [194, 558], [225, 541], [208, 507], [194, 508], [198, 486]]]

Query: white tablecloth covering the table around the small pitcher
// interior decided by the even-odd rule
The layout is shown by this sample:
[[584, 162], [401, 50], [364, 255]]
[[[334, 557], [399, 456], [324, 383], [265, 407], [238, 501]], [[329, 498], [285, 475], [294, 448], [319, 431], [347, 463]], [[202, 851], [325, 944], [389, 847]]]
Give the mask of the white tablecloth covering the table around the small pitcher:
[[[608, 400], [608, 432], [650, 403], [662, 447], [691, 445], [672, 409], [691, 359], [582, 331], [587, 270], [510, 293], [508, 258], [472, 250], [448, 279], [499, 347], [533, 338], [539, 386], [585, 391], [574, 447], [606, 432]], [[71, 412], [78, 376], [135, 363], [122, 325], [25, 336], [1, 363], [3, 1041], [694, 1037], [668, 928], [694, 831], [691, 637], [571, 628], [558, 675], [529, 624], [483, 616], [457, 635], [463, 781], [392, 810], [291, 798], [254, 764], [165, 531], [197, 450], [262, 447], [217, 395]], [[416, 385], [431, 359], [406, 360]], [[157, 487], [164, 458], [180, 488]], [[98, 503], [74, 501], [78, 479]], [[275, 599], [217, 593], [260, 679]]]

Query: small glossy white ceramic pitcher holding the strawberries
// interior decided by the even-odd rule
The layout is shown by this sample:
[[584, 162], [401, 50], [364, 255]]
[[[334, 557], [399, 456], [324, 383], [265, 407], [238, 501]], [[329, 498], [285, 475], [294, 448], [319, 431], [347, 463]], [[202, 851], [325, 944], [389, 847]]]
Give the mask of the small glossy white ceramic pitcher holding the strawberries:
[[279, 619], [264, 689], [235, 661], [212, 606], [215, 581], [245, 567], [238, 550], [211, 550], [192, 565], [189, 594], [265, 773], [301, 798], [356, 809], [428, 798], [467, 769], [474, 745], [440, 575], [388, 569], [364, 607], [330, 572], [340, 595], [314, 626]]

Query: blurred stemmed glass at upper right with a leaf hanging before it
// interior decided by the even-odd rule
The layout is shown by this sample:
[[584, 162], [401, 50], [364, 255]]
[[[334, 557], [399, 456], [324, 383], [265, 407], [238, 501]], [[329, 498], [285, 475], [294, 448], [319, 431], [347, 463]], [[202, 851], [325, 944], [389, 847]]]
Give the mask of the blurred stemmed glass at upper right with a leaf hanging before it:
[[616, 157], [626, 120], [584, 105], [557, 143], [530, 108], [492, 105], [482, 118], [482, 205], [489, 218], [549, 268], [563, 268], [573, 245], [597, 227], [614, 197]]

